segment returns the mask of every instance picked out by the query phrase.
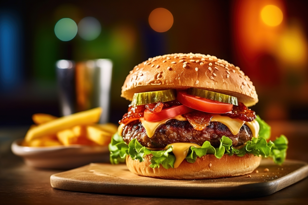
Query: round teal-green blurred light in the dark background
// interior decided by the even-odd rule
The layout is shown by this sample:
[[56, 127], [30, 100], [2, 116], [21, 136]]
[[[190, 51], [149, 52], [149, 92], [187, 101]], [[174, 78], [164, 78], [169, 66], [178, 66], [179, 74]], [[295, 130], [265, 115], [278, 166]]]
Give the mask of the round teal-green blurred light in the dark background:
[[55, 25], [55, 34], [61, 41], [70, 41], [77, 34], [77, 24], [70, 18], [62, 18]]

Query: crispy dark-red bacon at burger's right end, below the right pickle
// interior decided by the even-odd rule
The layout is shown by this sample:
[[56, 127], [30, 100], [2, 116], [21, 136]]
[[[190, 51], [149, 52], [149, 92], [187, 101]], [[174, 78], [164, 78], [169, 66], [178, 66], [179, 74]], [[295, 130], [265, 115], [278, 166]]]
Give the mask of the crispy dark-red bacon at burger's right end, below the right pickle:
[[231, 112], [221, 114], [222, 116], [228, 116], [229, 118], [238, 118], [240, 120], [251, 122], [257, 118], [255, 111], [248, 109], [243, 103], [239, 102], [238, 106], [233, 105]]

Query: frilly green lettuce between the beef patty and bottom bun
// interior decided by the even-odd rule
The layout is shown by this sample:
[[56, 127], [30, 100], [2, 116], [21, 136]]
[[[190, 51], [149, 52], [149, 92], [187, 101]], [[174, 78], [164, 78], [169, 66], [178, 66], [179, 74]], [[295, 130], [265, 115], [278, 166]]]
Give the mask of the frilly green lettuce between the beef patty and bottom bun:
[[[276, 164], [282, 164], [286, 159], [286, 150], [288, 148], [288, 140], [284, 135], [274, 140], [274, 142], [267, 142], [266, 139], [270, 137], [270, 126], [265, 123], [260, 117], [257, 117], [260, 124], [259, 137], [253, 138], [246, 142], [246, 145], [241, 149], [235, 149], [232, 146], [232, 140], [226, 136], [220, 139], [220, 146], [215, 148], [208, 141], [205, 141], [200, 148], [190, 147], [186, 160], [189, 163], [194, 163], [197, 157], [202, 157], [207, 154], [215, 155], [220, 159], [224, 154], [232, 156], [244, 156], [245, 154], [253, 154], [255, 156], [271, 157]], [[131, 156], [132, 159], [144, 161], [146, 155], [152, 154], [151, 165], [152, 168], [159, 168], [162, 165], [164, 168], [173, 168], [175, 156], [172, 153], [172, 146], [167, 147], [166, 150], [152, 151], [142, 146], [137, 139], [132, 139], [127, 145], [124, 143], [121, 136], [117, 133], [113, 135], [111, 143], [109, 144], [110, 162], [118, 164], [125, 161], [126, 156]]]

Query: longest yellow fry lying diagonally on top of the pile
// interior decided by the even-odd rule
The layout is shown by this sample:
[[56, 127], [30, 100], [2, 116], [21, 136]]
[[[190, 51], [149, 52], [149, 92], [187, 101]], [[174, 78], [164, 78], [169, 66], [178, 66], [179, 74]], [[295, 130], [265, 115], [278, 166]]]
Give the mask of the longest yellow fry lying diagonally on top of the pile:
[[91, 110], [54, 119], [29, 129], [26, 133], [25, 140], [26, 142], [30, 142], [32, 139], [40, 138], [44, 135], [52, 135], [77, 125], [97, 123], [101, 113], [102, 108], [97, 107]]

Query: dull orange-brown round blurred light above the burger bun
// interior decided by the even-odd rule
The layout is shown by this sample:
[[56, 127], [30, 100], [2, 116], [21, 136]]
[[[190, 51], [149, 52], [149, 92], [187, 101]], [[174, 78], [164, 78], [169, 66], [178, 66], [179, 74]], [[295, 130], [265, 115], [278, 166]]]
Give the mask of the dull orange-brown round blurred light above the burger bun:
[[172, 27], [173, 16], [167, 9], [157, 8], [149, 16], [149, 24], [153, 30], [165, 32]]

